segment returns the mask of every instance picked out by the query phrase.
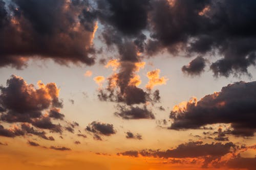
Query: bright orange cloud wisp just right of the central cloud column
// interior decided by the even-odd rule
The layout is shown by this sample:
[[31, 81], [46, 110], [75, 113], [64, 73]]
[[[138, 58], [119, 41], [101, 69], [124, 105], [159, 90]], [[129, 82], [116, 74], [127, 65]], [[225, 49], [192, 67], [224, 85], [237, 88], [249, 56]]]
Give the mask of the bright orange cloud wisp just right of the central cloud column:
[[146, 88], [148, 90], [153, 89], [153, 87], [156, 85], [166, 84], [166, 81], [168, 79], [166, 79], [165, 77], [160, 78], [159, 73], [160, 73], [160, 69], [155, 69], [155, 70], [147, 72], [147, 78], [149, 81], [146, 85]]

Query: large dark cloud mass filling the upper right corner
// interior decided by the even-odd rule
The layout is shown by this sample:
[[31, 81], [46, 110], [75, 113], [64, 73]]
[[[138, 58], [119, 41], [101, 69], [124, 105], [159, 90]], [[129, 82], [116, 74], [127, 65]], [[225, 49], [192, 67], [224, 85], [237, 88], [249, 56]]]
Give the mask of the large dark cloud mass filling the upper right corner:
[[[216, 52], [215, 76], [248, 73], [255, 65], [255, 1], [153, 1], [148, 54], [166, 48], [188, 55]], [[239, 13], [239, 15], [238, 15]]]

